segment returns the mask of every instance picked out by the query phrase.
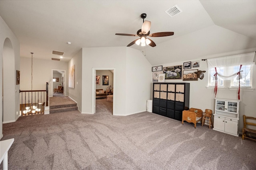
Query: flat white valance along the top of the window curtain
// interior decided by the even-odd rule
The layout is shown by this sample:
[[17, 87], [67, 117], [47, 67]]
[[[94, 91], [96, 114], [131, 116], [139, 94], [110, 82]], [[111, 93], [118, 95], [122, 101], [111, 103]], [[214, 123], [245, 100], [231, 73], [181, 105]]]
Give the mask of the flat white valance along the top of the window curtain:
[[255, 52], [207, 59], [208, 68], [252, 64]]

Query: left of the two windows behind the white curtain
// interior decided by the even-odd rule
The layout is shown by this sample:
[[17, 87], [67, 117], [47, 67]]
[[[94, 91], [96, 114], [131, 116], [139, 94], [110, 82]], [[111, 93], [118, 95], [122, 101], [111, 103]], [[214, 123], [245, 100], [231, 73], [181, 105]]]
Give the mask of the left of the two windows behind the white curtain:
[[[208, 87], [214, 87], [215, 86], [215, 78], [214, 78], [214, 74], [215, 72], [215, 68], [210, 68], [208, 70], [209, 72], [209, 76], [208, 76]], [[218, 67], [217, 68], [217, 72], [220, 74], [224, 73], [224, 67]], [[224, 87], [224, 80], [221, 77], [218, 77], [218, 87]]]

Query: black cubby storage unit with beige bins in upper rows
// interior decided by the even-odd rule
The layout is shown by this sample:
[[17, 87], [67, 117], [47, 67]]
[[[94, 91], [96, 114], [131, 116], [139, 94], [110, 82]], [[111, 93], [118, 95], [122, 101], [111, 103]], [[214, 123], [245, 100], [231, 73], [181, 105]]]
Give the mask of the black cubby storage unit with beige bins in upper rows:
[[189, 83], [153, 83], [152, 112], [182, 121], [189, 109]]

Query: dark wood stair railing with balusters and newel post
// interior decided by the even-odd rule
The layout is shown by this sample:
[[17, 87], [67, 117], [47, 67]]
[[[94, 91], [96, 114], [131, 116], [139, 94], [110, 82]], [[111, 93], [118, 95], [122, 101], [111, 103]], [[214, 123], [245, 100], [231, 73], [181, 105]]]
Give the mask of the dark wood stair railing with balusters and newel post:
[[20, 115], [44, 113], [44, 106], [48, 106], [48, 82], [46, 90], [20, 90]]

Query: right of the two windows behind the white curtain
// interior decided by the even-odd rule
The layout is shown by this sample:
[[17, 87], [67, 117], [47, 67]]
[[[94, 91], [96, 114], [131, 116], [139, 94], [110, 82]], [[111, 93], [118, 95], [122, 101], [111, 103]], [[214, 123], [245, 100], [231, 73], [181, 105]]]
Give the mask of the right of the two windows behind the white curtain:
[[[240, 66], [234, 66], [234, 72], [238, 72], [239, 71]], [[242, 79], [240, 79], [240, 87], [243, 88], [252, 88], [252, 65], [248, 64], [248, 65], [243, 65], [241, 70], [243, 70], [243, 72], [241, 72]], [[237, 79], [237, 77], [234, 77], [233, 79], [231, 79], [230, 82], [230, 86], [231, 87], [239, 87], [239, 80]]]

